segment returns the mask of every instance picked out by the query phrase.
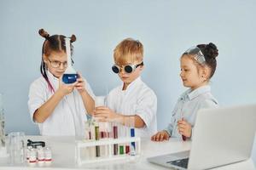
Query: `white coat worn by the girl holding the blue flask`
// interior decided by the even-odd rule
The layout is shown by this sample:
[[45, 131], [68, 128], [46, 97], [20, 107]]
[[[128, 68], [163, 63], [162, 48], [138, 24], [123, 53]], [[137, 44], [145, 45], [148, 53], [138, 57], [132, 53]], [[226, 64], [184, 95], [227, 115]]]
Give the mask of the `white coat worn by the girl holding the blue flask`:
[[[49, 71], [47, 75], [49, 82], [56, 91], [59, 87], [59, 79], [54, 77]], [[85, 80], [84, 82], [87, 92], [92, 98], [95, 98], [95, 95], [90, 88], [90, 84]], [[52, 95], [53, 93], [50, 92], [44, 77], [39, 77], [32, 82], [28, 95], [28, 108], [32, 122], [35, 122], [33, 120], [34, 112]], [[67, 94], [61, 99], [60, 103], [56, 105], [55, 110], [43, 123], [35, 123], [38, 123], [41, 135], [84, 136], [84, 121], [87, 120], [86, 113], [82, 97], [79, 92], [74, 89], [73, 93]]]

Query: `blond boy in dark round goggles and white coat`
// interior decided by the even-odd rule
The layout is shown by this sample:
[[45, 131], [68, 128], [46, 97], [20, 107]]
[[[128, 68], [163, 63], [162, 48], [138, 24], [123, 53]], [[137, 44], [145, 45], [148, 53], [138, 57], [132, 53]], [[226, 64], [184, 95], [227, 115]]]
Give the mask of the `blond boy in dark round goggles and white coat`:
[[127, 38], [114, 49], [113, 59], [112, 70], [122, 84], [108, 94], [107, 107], [96, 107], [95, 116], [102, 121], [118, 120], [123, 125], [133, 119], [135, 135], [150, 137], [157, 130], [157, 98], [140, 77], [144, 68], [143, 44]]

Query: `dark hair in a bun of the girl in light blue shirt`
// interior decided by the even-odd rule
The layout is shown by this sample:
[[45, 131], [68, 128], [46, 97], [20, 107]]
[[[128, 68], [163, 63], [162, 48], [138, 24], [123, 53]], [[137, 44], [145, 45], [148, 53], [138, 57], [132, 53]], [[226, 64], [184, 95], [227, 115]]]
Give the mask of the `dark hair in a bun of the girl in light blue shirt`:
[[216, 57], [218, 56], [217, 46], [210, 42], [208, 44], [199, 44], [198, 48], [201, 49], [202, 54], [204, 54], [207, 65], [211, 68], [210, 77], [211, 78], [216, 70], [217, 61]]

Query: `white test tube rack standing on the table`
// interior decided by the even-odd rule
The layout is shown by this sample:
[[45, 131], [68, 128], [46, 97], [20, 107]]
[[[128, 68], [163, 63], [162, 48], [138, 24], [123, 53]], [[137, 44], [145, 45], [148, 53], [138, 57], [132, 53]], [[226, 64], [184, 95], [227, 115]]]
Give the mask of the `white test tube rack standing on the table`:
[[[136, 144], [136, 148], [134, 148], [134, 153], [129, 154], [117, 154], [113, 155], [114, 144]], [[105, 156], [91, 156], [90, 159], [84, 158], [82, 155], [84, 151], [86, 154], [90, 154], [90, 150], [96, 147], [105, 146]], [[94, 150], [95, 151], [95, 150]], [[86, 163], [94, 163], [99, 161], [114, 161], [114, 160], [129, 160], [129, 158], [134, 159], [140, 156], [141, 154], [141, 139], [140, 137], [124, 137], [118, 139], [100, 139], [100, 140], [77, 140], [75, 145], [75, 160], [78, 165], [86, 164]]]

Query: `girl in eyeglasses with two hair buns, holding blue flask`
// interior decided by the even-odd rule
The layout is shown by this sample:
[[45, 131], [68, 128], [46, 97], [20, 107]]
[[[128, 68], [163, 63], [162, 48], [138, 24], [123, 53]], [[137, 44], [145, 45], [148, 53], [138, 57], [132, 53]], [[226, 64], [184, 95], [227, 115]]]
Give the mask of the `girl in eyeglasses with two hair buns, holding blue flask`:
[[[65, 36], [39, 30], [45, 38], [42, 48], [41, 74], [29, 89], [28, 107], [32, 122], [38, 123], [42, 135], [83, 136], [86, 114], [94, 110], [90, 85], [79, 74], [77, 82], [65, 84], [62, 75], [67, 68]], [[71, 43], [76, 40], [72, 35]], [[71, 44], [73, 54], [73, 45]]]

